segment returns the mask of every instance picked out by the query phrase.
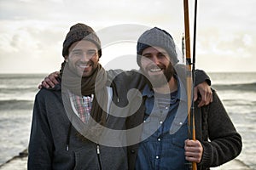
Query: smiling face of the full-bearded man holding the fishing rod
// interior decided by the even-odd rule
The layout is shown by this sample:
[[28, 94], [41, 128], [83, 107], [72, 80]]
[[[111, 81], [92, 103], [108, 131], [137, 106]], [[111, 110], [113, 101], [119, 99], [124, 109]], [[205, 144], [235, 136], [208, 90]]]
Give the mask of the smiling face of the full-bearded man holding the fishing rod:
[[164, 48], [148, 47], [143, 50], [141, 67], [150, 82], [155, 87], [161, 87], [169, 82], [175, 73], [170, 56]]

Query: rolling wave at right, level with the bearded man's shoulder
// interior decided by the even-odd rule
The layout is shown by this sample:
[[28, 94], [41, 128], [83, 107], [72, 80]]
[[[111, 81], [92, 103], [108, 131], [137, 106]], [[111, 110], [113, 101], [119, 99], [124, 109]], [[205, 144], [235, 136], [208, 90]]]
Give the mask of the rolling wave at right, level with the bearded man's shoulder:
[[238, 84], [213, 84], [212, 88], [219, 90], [239, 90], [256, 92], [256, 82]]

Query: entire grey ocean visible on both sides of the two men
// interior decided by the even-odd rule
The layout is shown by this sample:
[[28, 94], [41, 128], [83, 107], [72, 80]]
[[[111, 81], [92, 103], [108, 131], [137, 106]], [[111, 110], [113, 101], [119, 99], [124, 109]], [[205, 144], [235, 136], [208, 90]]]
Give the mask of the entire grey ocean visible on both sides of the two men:
[[[0, 74], [0, 165], [27, 148], [38, 83], [47, 74]], [[236, 159], [256, 169], [256, 72], [209, 73], [243, 148]]]

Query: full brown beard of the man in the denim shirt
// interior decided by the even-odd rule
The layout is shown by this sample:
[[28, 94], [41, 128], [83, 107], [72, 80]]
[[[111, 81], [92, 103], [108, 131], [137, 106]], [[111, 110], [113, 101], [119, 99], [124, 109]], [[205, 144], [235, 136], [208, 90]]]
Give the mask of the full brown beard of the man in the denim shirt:
[[[161, 69], [162, 71], [161, 74], [151, 74], [149, 73], [151, 69]], [[149, 65], [143, 70], [143, 73], [153, 88], [160, 88], [171, 80], [176, 71], [170, 63], [167, 67], [165, 65]]]

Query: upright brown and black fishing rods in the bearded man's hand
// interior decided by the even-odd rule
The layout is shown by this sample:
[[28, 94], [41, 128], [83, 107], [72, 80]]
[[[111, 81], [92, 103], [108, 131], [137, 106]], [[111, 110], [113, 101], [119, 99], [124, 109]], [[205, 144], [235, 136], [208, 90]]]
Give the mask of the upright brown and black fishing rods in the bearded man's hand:
[[[194, 109], [194, 90], [195, 87], [195, 33], [196, 33], [196, 13], [197, 13], [197, 0], [195, 0], [195, 19], [194, 19], [194, 41], [193, 41], [193, 62], [190, 56], [190, 36], [189, 36], [189, 3], [188, 0], [183, 0], [184, 8], [184, 26], [185, 26], [185, 54], [187, 60], [187, 95], [188, 95], [188, 127], [189, 139], [195, 140], [195, 109]], [[191, 68], [192, 65], [192, 68]], [[192, 74], [191, 74], [192, 72]], [[192, 76], [191, 76], [192, 75]], [[191, 126], [192, 125], [192, 126]], [[192, 128], [192, 130], [191, 130]], [[196, 162], [192, 162], [192, 169], [196, 170]]]

